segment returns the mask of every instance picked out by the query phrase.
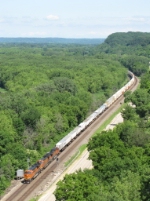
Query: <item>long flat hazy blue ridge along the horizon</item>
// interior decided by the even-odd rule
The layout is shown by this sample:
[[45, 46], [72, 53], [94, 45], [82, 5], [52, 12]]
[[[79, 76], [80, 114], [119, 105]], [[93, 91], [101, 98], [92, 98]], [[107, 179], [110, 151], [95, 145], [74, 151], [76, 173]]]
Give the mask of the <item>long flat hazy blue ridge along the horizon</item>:
[[104, 38], [0, 38], [0, 43], [55, 43], [55, 44], [101, 44]]

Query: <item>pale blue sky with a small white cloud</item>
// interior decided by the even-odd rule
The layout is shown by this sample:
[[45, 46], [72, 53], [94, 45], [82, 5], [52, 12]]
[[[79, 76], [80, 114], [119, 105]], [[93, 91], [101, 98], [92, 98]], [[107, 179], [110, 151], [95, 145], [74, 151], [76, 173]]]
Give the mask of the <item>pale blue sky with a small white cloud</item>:
[[106, 38], [150, 32], [150, 0], [0, 0], [0, 37]]

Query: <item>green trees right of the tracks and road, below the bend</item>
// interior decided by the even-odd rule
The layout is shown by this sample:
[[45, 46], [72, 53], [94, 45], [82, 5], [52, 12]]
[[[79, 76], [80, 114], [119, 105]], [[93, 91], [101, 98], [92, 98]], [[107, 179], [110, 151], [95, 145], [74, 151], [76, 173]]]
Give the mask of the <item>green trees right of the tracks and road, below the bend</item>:
[[[124, 123], [97, 133], [88, 143], [92, 170], [65, 176], [57, 184], [56, 200], [150, 200], [150, 74], [141, 87], [126, 95]], [[66, 193], [68, 192], [68, 193]]]

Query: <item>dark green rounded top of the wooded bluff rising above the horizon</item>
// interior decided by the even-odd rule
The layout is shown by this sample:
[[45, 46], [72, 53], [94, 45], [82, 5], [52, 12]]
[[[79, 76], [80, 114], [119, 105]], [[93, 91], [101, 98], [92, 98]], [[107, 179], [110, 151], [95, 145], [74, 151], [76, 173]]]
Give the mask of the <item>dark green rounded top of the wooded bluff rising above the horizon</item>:
[[136, 55], [149, 58], [150, 33], [147, 32], [118, 32], [109, 35], [100, 51], [117, 55]]

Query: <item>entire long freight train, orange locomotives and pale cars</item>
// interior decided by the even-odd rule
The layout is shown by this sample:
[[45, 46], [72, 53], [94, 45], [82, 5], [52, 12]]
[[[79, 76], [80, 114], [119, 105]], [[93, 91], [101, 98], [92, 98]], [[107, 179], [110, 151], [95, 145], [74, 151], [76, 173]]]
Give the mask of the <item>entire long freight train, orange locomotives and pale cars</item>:
[[129, 72], [130, 81], [113, 94], [106, 102], [87, 117], [82, 123], [75, 127], [64, 138], [57, 142], [55, 148], [46, 153], [41, 159], [24, 172], [24, 182], [30, 183], [35, 179], [43, 169], [45, 169], [58, 155], [76, 138], [78, 137], [95, 119], [97, 119], [106, 109], [108, 109], [122, 94], [124, 94], [134, 83], [135, 77]]

